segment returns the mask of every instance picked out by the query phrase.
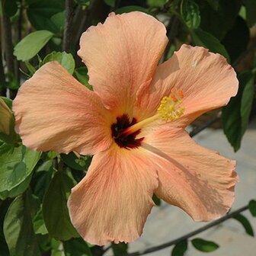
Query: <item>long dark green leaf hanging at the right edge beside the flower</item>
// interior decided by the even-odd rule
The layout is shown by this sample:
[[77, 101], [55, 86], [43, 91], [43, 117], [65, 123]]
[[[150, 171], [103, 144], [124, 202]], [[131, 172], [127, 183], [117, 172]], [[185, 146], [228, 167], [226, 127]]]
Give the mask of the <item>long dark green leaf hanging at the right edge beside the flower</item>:
[[229, 143], [235, 152], [241, 146], [242, 136], [248, 126], [254, 100], [254, 75], [251, 71], [238, 75], [239, 89], [235, 98], [222, 109], [222, 124]]

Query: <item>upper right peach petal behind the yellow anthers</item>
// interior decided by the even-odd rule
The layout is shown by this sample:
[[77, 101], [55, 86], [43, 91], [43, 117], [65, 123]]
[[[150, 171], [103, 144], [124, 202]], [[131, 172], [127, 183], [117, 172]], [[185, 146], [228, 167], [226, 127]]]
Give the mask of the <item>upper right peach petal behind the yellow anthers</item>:
[[187, 126], [206, 111], [226, 105], [238, 91], [238, 80], [223, 56], [203, 47], [183, 45], [158, 66], [151, 85], [138, 92], [134, 116], [141, 120], [155, 114], [171, 88], [183, 91], [184, 115], [175, 123]]

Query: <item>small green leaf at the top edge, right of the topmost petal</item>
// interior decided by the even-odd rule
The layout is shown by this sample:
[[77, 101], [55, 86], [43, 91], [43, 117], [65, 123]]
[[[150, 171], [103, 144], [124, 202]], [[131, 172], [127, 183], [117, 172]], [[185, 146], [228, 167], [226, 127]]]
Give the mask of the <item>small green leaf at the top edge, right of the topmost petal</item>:
[[181, 2], [181, 17], [184, 19], [187, 27], [199, 27], [201, 18], [198, 5], [192, 0], [183, 0]]

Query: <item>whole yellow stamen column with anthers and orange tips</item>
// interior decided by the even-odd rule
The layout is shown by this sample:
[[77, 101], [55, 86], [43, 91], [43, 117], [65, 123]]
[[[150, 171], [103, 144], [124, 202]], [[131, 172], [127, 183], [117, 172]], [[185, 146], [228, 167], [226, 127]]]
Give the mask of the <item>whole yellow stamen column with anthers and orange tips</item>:
[[146, 124], [152, 123], [153, 121], [158, 119], [162, 119], [165, 121], [177, 120], [184, 114], [184, 107], [180, 106], [183, 97], [184, 95], [182, 91], [177, 91], [176, 88], [172, 88], [170, 97], [162, 98], [162, 101], [157, 110], [157, 114], [145, 120], [142, 120], [139, 123], [133, 124], [133, 126], [128, 127], [121, 134], [128, 135], [135, 133], [136, 131], [140, 130], [143, 126], [146, 126]]

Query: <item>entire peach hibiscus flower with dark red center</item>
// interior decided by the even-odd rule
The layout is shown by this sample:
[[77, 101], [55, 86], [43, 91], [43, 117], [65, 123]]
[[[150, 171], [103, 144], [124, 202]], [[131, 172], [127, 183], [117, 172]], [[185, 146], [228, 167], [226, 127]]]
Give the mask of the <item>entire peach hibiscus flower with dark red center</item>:
[[25, 146], [94, 155], [68, 202], [92, 244], [138, 238], [153, 194], [196, 221], [219, 218], [234, 200], [235, 162], [198, 146], [184, 128], [235, 96], [235, 72], [198, 46], [183, 45], [158, 65], [165, 34], [148, 14], [110, 14], [82, 34], [78, 51], [94, 91], [49, 62], [14, 100]]

